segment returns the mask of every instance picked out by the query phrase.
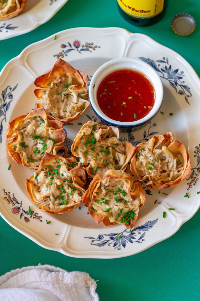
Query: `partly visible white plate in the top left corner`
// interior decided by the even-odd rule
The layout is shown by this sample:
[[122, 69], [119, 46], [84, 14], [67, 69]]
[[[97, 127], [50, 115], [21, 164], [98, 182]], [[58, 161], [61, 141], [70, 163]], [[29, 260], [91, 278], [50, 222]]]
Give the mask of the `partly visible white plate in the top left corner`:
[[0, 40], [19, 36], [51, 19], [68, 0], [28, 0], [18, 16], [0, 21]]

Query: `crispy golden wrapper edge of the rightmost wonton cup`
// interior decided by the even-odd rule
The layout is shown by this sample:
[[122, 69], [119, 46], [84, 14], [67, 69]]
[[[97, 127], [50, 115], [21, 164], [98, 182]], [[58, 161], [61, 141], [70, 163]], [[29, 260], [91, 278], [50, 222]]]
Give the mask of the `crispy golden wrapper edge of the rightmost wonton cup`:
[[[172, 154], [174, 153], [174, 154], [182, 155], [183, 160], [184, 160], [184, 172], [183, 172], [183, 175], [178, 177], [175, 181], [171, 181], [169, 183], [165, 183], [165, 184], [159, 185], [159, 186], [157, 186], [153, 182], [153, 178], [151, 176], [148, 176], [148, 177], [145, 176], [145, 179], [148, 180], [148, 182], [145, 184], [145, 186], [153, 188], [153, 189], [156, 189], [156, 188], [166, 189], [169, 187], [173, 187], [173, 186], [177, 185], [178, 183], [180, 183], [181, 181], [183, 181], [191, 172], [191, 164], [190, 164], [189, 154], [187, 153], [186, 148], [183, 143], [181, 143], [180, 141], [178, 141], [176, 139], [173, 141], [172, 132], [167, 132], [164, 135], [154, 135], [152, 138], [155, 138], [154, 148], [162, 148], [163, 145], [165, 145], [172, 152]], [[130, 163], [130, 170], [133, 172], [133, 175], [140, 181], [143, 181], [143, 178], [138, 174], [136, 167], [135, 167], [136, 155], [140, 150], [145, 149], [147, 144], [148, 144], [148, 142], [142, 142], [136, 146], [136, 149], [133, 154], [133, 158]]]

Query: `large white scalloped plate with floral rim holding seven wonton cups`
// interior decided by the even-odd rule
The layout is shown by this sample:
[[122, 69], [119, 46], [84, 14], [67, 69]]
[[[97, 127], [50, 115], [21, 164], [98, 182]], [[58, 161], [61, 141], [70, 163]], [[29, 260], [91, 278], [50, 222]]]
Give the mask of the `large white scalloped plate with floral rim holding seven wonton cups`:
[[[40, 246], [68, 256], [116, 258], [136, 254], [174, 234], [199, 208], [199, 78], [179, 54], [142, 34], [131, 34], [121, 28], [73, 28], [56, 36], [55, 41], [53, 35], [28, 46], [0, 73], [1, 216]], [[158, 72], [164, 86], [161, 107], [164, 114], [158, 113], [151, 123], [138, 132], [121, 133], [121, 139], [136, 145], [155, 133], [172, 131], [174, 137], [185, 144], [192, 166], [189, 179], [174, 188], [159, 193], [159, 190], [147, 189], [142, 185], [147, 200], [140, 209], [132, 234], [121, 225], [106, 228], [96, 225], [87, 215], [87, 208], [83, 204], [81, 210], [78, 207], [70, 213], [57, 216], [39, 211], [25, 188], [25, 181], [33, 171], [13, 162], [6, 151], [7, 123], [34, 109], [36, 98], [33, 81], [50, 70], [58, 57], [91, 78], [100, 65], [123, 56], [139, 58]], [[173, 116], [169, 113], [173, 113]], [[90, 107], [73, 124], [64, 126], [67, 151], [70, 152], [72, 141], [81, 127], [78, 123], [84, 124], [89, 119], [96, 121]], [[9, 164], [11, 168], [7, 170]], [[184, 197], [186, 192], [189, 198]], [[154, 204], [155, 200], [157, 203]], [[28, 206], [31, 206], [32, 216]], [[163, 211], [166, 212], [166, 218], [163, 218]], [[51, 221], [49, 225], [46, 219]]]

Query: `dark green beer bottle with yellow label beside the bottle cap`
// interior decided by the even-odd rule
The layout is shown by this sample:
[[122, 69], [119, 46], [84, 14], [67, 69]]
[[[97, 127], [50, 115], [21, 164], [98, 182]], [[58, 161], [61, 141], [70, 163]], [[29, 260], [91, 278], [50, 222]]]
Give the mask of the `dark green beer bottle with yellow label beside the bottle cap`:
[[168, 0], [117, 0], [124, 19], [137, 26], [158, 22], [165, 14]]

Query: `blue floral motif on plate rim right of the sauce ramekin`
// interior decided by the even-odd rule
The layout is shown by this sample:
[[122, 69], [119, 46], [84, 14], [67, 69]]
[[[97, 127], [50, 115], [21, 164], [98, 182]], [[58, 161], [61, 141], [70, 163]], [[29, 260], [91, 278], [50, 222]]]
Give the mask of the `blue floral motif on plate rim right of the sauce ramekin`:
[[169, 81], [169, 84], [176, 90], [179, 95], [185, 96], [185, 101], [187, 104], [189, 103], [188, 98], [192, 96], [190, 92], [190, 88], [187, 85], [184, 85], [184, 81], [182, 81], [184, 75], [184, 71], [180, 71], [179, 69], [172, 69], [172, 65], [169, 64], [169, 60], [166, 57], [163, 57], [162, 60], [157, 60], [156, 64], [154, 60], [146, 57], [139, 57], [145, 63], [151, 65], [157, 72], [161, 73], [160, 77]]

